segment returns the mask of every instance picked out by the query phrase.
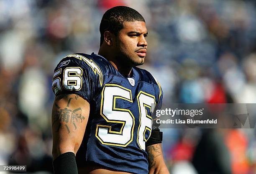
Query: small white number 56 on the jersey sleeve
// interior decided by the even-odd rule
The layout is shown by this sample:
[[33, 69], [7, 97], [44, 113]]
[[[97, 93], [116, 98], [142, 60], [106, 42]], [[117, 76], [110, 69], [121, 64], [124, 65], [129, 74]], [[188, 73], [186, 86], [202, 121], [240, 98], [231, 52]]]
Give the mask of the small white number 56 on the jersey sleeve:
[[82, 88], [82, 75], [83, 70], [80, 67], [68, 67], [64, 69], [63, 80], [61, 85], [61, 78], [58, 77], [61, 74], [61, 69], [54, 72], [52, 81], [52, 89], [54, 94], [57, 94], [61, 90], [61, 86], [66, 90], [80, 90]]

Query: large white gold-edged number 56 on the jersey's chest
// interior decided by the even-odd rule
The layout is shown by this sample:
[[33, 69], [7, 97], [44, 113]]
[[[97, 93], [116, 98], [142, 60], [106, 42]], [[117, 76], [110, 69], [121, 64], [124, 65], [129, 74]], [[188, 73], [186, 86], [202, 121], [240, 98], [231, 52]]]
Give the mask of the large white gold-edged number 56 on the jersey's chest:
[[[131, 90], [118, 84], [105, 84], [102, 90], [100, 114], [108, 122], [106, 125], [97, 125], [96, 137], [102, 144], [113, 146], [128, 146], [133, 141], [135, 118], [131, 110], [116, 108], [116, 100], [133, 102]], [[146, 92], [139, 92], [137, 96], [139, 110], [139, 127], [137, 142], [141, 149], [145, 150], [146, 130], [151, 133], [152, 118], [148, 115], [149, 110], [154, 110], [155, 97]], [[151, 108], [152, 107], [152, 108]], [[115, 131], [113, 123], [121, 123], [120, 131]], [[110, 126], [112, 125], [112, 126]], [[120, 124], [118, 124], [120, 125]]]

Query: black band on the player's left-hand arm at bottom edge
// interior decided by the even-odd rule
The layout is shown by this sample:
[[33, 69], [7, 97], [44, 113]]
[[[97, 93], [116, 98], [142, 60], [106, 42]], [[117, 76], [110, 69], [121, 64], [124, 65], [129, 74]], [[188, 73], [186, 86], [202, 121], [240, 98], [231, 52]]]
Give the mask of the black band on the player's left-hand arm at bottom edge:
[[53, 161], [54, 174], [78, 174], [76, 157], [73, 152], [61, 154]]

